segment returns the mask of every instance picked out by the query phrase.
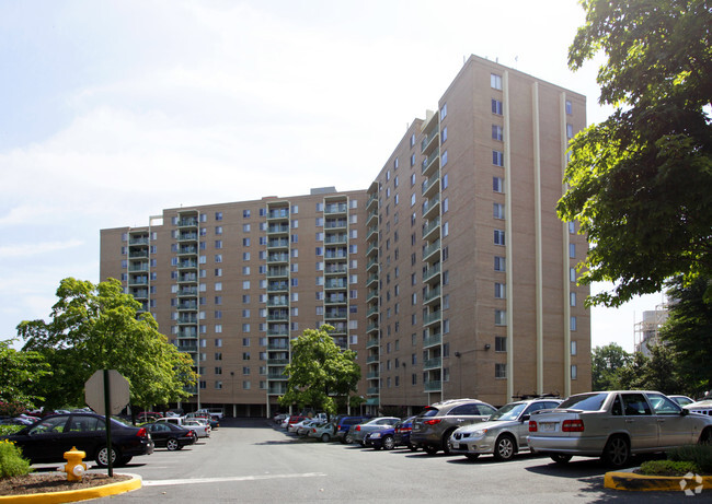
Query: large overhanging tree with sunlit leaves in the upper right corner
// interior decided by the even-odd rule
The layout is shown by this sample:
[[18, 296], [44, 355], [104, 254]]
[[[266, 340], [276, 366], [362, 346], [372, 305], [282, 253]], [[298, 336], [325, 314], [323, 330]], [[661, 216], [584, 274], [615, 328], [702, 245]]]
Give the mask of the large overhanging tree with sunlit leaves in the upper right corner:
[[600, 103], [616, 110], [573, 140], [558, 211], [590, 242], [581, 281], [616, 283], [588, 302], [618, 306], [677, 274], [712, 277], [712, 10], [709, 0], [582, 5], [569, 65], [604, 51]]

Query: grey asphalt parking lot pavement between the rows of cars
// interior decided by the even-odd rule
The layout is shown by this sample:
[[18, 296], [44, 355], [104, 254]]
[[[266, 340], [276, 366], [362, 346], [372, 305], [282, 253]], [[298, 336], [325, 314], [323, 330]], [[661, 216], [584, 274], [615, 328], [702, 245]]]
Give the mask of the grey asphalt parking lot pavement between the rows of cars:
[[[37, 466], [50, 470], [59, 465]], [[91, 464], [90, 470], [100, 470]], [[209, 439], [179, 452], [157, 448], [115, 472], [143, 479], [140, 490], [113, 503], [576, 503], [709, 502], [703, 492], [621, 492], [604, 488], [606, 468], [574, 458], [565, 467], [520, 455], [508, 462], [483, 456], [407, 449], [376, 452], [338, 442], [297, 438], [264, 419], [226, 419]]]

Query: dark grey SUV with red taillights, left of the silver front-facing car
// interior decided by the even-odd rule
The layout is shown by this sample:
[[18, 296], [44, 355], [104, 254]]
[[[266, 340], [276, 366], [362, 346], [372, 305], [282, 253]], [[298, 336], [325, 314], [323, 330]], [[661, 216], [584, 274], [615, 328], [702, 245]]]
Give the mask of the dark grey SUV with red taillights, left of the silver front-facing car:
[[456, 429], [483, 422], [496, 409], [478, 399], [450, 399], [425, 408], [415, 420], [411, 443], [425, 449], [428, 455], [439, 450], [449, 454], [448, 439]]

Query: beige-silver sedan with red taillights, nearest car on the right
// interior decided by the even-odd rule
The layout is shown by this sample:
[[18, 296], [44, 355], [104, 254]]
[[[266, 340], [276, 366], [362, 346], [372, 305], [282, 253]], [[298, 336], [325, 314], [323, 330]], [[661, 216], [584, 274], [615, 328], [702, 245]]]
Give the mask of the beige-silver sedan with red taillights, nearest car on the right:
[[577, 394], [529, 420], [529, 446], [558, 464], [579, 455], [623, 467], [632, 454], [710, 441], [712, 418], [647, 390]]

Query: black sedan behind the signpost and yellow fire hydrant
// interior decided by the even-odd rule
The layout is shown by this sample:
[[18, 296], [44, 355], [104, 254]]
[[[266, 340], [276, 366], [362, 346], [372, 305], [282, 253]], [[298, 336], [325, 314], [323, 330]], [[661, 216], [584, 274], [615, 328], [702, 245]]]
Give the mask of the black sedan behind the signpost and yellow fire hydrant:
[[[53, 414], [3, 439], [20, 447], [32, 464], [64, 462], [65, 452], [77, 447], [100, 467], [108, 465], [106, 424], [104, 417], [95, 413]], [[152, 454], [153, 441], [147, 429], [112, 419], [111, 452], [113, 464], [123, 466], [137, 455]]]

